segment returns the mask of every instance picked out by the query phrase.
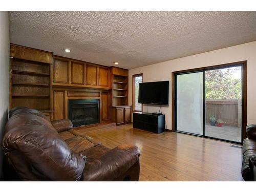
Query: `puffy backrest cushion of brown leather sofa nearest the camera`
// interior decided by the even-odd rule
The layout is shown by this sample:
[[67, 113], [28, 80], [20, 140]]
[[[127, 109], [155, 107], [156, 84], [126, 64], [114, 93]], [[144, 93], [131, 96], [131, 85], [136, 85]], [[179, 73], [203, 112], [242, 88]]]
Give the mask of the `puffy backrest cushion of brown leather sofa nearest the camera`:
[[[73, 153], [56, 130], [46, 125], [13, 127], [4, 136], [3, 150], [7, 154], [16, 150], [29, 162], [31, 170], [37, 170], [48, 180], [76, 181], [83, 173], [84, 157]], [[17, 159], [11, 161], [18, 165]]]

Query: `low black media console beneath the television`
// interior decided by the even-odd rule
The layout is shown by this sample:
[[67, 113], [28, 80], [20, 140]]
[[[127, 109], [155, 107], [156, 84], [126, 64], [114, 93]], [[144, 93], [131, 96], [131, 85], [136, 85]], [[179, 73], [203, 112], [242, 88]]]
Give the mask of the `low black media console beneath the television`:
[[134, 112], [133, 127], [154, 133], [162, 133], [165, 131], [165, 115]]

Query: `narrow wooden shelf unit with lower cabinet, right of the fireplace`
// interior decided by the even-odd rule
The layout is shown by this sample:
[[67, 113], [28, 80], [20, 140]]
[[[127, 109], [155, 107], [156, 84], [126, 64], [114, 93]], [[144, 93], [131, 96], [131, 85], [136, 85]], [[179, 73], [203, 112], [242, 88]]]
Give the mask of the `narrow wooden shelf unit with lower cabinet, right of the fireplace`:
[[117, 125], [130, 123], [132, 106], [128, 105], [128, 70], [111, 67], [110, 119]]

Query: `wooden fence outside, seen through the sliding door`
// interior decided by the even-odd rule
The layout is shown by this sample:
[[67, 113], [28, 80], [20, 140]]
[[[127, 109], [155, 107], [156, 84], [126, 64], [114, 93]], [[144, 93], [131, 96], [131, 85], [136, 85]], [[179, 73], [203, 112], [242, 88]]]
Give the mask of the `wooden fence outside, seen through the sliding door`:
[[206, 99], [206, 123], [210, 123], [209, 116], [221, 119], [224, 125], [241, 127], [241, 99]]

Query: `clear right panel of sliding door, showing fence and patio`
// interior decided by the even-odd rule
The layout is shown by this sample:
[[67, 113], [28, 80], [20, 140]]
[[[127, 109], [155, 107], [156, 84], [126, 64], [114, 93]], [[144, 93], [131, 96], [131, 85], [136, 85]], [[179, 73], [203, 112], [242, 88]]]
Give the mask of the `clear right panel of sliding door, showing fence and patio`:
[[241, 66], [205, 71], [205, 136], [241, 142]]

